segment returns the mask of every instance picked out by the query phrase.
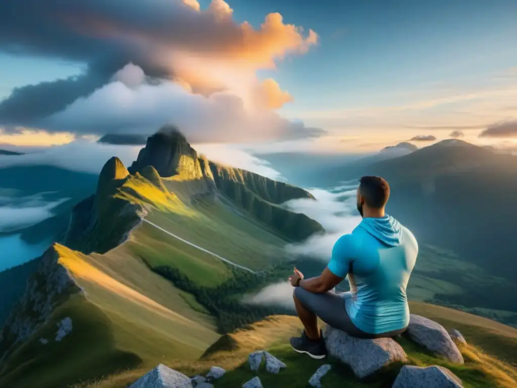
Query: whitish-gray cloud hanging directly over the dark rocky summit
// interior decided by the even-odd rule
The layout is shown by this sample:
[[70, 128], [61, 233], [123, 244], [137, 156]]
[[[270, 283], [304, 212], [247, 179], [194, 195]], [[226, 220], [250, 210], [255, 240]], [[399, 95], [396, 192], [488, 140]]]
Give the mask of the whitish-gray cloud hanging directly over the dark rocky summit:
[[[53, 131], [73, 128], [82, 134], [151, 135], [164, 124], [173, 124], [193, 143], [291, 140], [324, 133], [264, 107], [247, 109], [230, 92], [205, 97], [172, 81], [147, 82], [141, 74], [128, 65], [111, 83], [41, 120], [40, 125]], [[137, 85], [136, 79], [142, 83]]]

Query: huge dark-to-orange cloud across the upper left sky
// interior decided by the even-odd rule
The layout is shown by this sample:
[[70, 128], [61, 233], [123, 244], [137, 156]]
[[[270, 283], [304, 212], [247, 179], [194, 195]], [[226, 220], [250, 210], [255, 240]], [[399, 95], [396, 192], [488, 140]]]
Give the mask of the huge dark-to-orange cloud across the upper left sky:
[[[305, 53], [317, 41], [315, 32], [285, 24], [279, 13], [268, 14], [259, 28], [237, 23], [223, 0], [212, 0], [206, 9], [195, 0], [134, 0], [131, 7], [104, 0], [2, 2], [0, 50], [83, 63], [85, 72], [14, 89], [0, 103], [0, 121], [35, 126], [105, 85], [127, 63], [205, 96], [231, 90], [250, 100], [263, 91], [267, 104], [278, 107], [290, 98], [272, 84], [256, 87], [255, 72], [273, 69], [276, 61]], [[129, 84], [142, 73], [123, 75]]]

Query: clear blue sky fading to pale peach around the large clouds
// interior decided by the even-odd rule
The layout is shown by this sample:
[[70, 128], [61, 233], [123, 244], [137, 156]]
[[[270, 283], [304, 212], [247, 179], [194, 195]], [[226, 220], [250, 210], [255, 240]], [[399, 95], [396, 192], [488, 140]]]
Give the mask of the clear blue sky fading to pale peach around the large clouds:
[[[209, 3], [200, 0], [202, 9]], [[319, 43], [307, 53], [276, 61], [276, 69], [257, 69], [260, 79], [274, 78], [294, 97], [294, 102], [278, 110], [284, 117], [300, 118], [345, 138], [384, 131], [381, 141], [389, 142], [390, 137], [407, 140], [401, 135], [406, 126], [413, 131], [447, 127], [435, 132], [447, 136], [449, 127], [463, 123], [481, 130], [517, 114], [504, 106], [504, 101], [517, 97], [513, 88], [517, 2], [513, 0], [227, 3], [239, 23], [249, 21], [258, 28], [266, 14], [279, 12], [284, 23], [318, 34]], [[0, 98], [13, 87], [66, 78], [84, 68], [84, 63], [55, 57], [19, 57], [0, 51], [0, 73], [8, 74], [0, 85]], [[441, 102], [427, 103], [436, 99]], [[417, 102], [425, 107], [404, 108]], [[499, 105], [501, 112], [506, 109], [504, 113]], [[466, 116], [470, 112], [476, 113], [476, 120]], [[476, 134], [472, 132], [472, 139]]]

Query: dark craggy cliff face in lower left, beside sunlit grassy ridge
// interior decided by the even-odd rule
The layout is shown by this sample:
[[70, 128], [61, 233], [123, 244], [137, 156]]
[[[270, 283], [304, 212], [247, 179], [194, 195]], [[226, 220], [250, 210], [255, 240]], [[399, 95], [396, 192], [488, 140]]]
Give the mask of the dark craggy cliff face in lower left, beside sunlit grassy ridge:
[[0, 335], [0, 362], [14, 346], [39, 330], [54, 308], [69, 295], [82, 292], [66, 268], [58, 263], [54, 247], [47, 249], [39, 260], [38, 270], [29, 278], [24, 295], [5, 321]]

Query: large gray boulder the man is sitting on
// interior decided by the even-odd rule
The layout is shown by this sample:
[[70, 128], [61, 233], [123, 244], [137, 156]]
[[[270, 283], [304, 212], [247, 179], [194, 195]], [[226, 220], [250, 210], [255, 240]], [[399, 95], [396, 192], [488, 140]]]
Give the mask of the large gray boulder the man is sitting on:
[[359, 339], [327, 325], [323, 334], [327, 351], [364, 378], [393, 362], [407, 361], [406, 352], [391, 338]]

